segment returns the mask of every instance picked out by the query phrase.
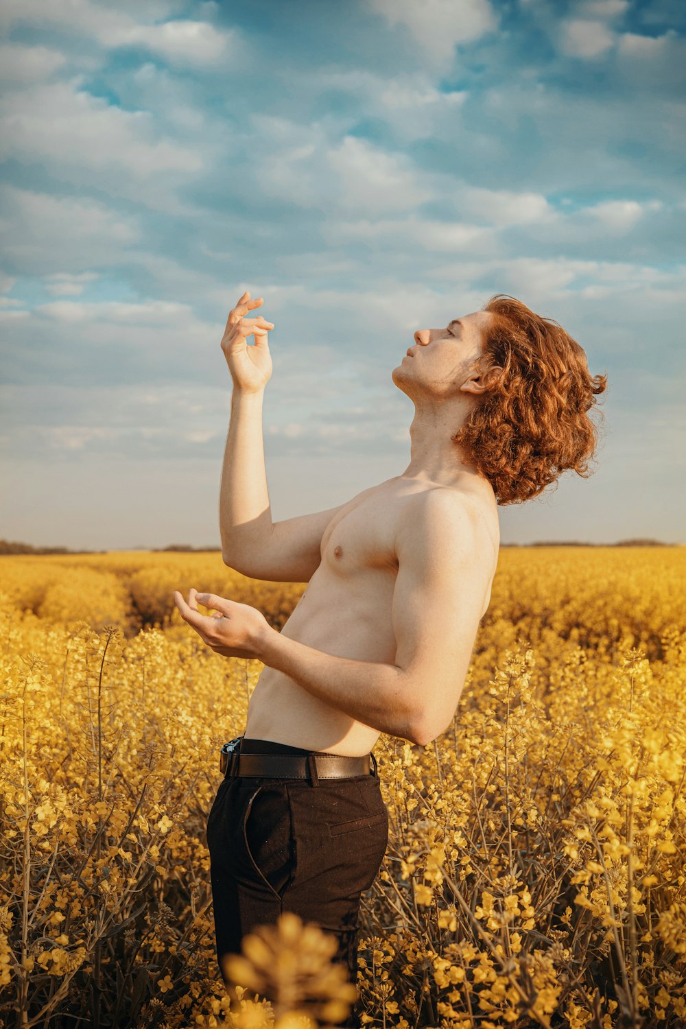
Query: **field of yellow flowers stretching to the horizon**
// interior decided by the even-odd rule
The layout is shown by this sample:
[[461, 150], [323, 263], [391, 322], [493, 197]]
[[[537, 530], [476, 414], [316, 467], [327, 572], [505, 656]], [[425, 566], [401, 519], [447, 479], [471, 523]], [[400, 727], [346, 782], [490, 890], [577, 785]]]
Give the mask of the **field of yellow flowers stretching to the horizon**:
[[[304, 586], [214, 553], [0, 572], [0, 1024], [257, 1026], [267, 944], [237, 959], [229, 1012], [205, 822], [262, 666], [206, 648], [172, 595], [281, 628]], [[686, 1026], [685, 582], [685, 547], [501, 551], [454, 723], [375, 748], [391, 837], [364, 1024]]]

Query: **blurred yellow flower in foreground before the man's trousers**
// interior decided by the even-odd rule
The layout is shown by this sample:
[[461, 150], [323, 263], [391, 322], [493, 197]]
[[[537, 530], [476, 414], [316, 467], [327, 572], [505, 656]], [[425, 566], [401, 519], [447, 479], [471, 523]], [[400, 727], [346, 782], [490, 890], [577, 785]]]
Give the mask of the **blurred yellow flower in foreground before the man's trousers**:
[[[345, 965], [333, 963], [335, 936], [319, 926], [303, 924], [297, 915], [284, 912], [276, 925], [258, 926], [243, 939], [242, 955], [224, 961], [224, 973], [234, 987], [243, 988], [241, 1029], [267, 1025], [265, 1010], [246, 1002], [243, 994], [254, 991], [272, 1002], [274, 1029], [315, 1029], [348, 1018], [357, 990], [348, 981]], [[262, 1020], [260, 1022], [260, 1019]]]

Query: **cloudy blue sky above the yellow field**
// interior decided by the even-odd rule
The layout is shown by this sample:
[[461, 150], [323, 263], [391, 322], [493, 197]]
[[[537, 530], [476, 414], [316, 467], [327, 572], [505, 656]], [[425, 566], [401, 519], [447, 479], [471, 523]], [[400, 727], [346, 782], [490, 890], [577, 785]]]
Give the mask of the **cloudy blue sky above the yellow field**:
[[[263, 296], [274, 521], [409, 463], [391, 374], [515, 295], [608, 376], [502, 543], [686, 540], [681, 0], [3, 0], [0, 537], [219, 546]], [[252, 341], [251, 341], [252, 342]]]

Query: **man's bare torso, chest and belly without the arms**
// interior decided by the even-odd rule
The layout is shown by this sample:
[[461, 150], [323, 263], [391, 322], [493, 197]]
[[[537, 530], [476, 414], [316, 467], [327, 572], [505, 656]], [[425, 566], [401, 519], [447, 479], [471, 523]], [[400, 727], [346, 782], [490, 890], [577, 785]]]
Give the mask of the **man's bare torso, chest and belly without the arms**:
[[[364, 490], [337, 511], [322, 536], [321, 564], [282, 634], [334, 657], [395, 664], [397, 520], [403, 505], [431, 489], [445, 487], [395, 476]], [[498, 507], [490, 487], [470, 488], [469, 498], [480, 505], [493, 542], [493, 553], [484, 555], [490, 578], [482, 617], [498, 562]], [[250, 699], [245, 735], [356, 755], [371, 750], [380, 733], [325, 704], [283, 672], [265, 667]]]

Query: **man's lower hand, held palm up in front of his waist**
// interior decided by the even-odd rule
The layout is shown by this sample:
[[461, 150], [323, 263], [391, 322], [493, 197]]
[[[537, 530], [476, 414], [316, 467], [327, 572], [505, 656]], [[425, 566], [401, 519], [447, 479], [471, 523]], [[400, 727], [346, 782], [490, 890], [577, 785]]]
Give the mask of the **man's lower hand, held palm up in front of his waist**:
[[[201, 614], [198, 602], [216, 613]], [[239, 604], [214, 593], [197, 593], [193, 587], [187, 602], [180, 591], [175, 590], [174, 603], [203, 642], [224, 658], [256, 658], [259, 661], [262, 640], [275, 632], [261, 611], [249, 604]]]

